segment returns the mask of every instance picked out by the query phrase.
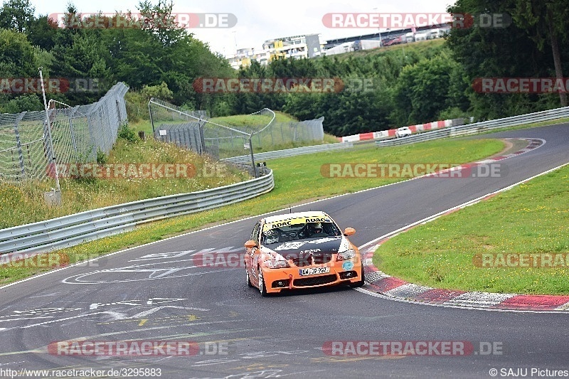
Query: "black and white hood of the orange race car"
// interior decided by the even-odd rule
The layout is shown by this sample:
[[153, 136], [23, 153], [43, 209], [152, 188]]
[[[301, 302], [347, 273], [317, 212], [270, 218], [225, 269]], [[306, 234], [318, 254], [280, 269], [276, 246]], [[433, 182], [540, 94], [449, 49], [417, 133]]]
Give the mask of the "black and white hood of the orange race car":
[[[349, 249], [349, 242], [344, 236], [317, 237], [306, 240], [281, 242], [265, 245], [276, 259], [291, 260], [309, 255], [335, 254]], [[267, 251], [269, 252], [269, 251]]]

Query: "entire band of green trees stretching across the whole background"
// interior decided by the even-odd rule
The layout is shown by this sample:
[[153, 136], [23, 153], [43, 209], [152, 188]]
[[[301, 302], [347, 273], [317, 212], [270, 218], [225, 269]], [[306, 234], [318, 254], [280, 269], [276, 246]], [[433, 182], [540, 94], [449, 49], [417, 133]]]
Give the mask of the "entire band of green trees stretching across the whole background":
[[[558, 77], [569, 58], [569, 14], [564, 0], [457, 0], [458, 14], [511, 14], [505, 28], [452, 29], [445, 43], [413, 43], [389, 50], [303, 60], [253, 62], [233, 70], [207, 44], [176, 26], [173, 4], [141, 1], [147, 21], [139, 28], [75, 28], [80, 13], [70, 5], [67, 28], [47, 16], [36, 18], [30, 0], [7, 0], [0, 9], [0, 73], [3, 78], [99, 78], [107, 87], [131, 87], [129, 116], [147, 117], [145, 103], [161, 97], [214, 116], [255, 112], [262, 107], [299, 119], [324, 116], [336, 135], [378, 131], [435, 119], [474, 116], [493, 119], [567, 105], [565, 94], [481, 94], [476, 78]], [[130, 17], [119, 15], [121, 17]], [[113, 23], [107, 18], [107, 23]], [[197, 78], [341, 78], [338, 93], [196, 92]], [[105, 85], [101, 85], [105, 91]], [[50, 97], [70, 105], [102, 93]], [[0, 91], [0, 112], [40, 110], [37, 95]]]

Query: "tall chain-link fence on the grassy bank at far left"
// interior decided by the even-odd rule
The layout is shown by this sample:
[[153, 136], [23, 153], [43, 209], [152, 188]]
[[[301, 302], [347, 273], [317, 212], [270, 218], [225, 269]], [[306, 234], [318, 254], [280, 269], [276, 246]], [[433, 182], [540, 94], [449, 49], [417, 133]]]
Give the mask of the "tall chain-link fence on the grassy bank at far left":
[[68, 164], [95, 161], [99, 150], [109, 153], [119, 126], [127, 120], [127, 91], [128, 87], [119, 82], [90, 105], [70, 107], [50, 100], [50, 133], [46, 112], [0, 114], [0, 181], [46, 179], [52, 156], [56, 163]]

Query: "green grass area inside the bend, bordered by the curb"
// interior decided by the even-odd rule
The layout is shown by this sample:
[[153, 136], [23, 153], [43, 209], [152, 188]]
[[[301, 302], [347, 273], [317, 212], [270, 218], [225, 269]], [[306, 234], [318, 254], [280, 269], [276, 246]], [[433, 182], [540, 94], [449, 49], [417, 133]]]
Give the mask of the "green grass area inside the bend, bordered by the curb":
[[568, 198], [565, 166], [391, 238], [373, 263], [436, 288], [566, 295]]

